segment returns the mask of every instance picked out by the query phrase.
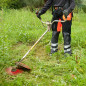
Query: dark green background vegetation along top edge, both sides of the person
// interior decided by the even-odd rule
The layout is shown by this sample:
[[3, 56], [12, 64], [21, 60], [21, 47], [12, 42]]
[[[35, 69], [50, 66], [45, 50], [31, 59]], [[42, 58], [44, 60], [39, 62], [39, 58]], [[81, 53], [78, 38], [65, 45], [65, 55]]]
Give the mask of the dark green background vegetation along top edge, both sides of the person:
[[[22, 8], [29, 6], [31, 10], [35, 7], [43, 6], [47, 0], [0, 0], [0, 8]], [[86, 0], [75, 0], [77, 9], [82, 8], [84, 11], [86, 9]], [[86, 11], [85, 11], [86, 12]]]

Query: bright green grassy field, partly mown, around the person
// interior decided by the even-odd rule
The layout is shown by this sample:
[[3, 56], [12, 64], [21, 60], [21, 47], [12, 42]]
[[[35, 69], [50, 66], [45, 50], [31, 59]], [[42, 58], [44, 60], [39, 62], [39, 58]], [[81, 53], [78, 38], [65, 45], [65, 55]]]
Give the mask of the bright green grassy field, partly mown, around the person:
[[[42, 16], [50, 21], [51, 12]], [[52, 31], [48, 32], [24, 59], [30, 72], [10, 76], [5, 72], [14, 66], [45, 32], [35, 12], [29, 9], [0, 11], [0, 86], [86, 86], [86, 14], [74, 13], [72, 56], [64, 58], [62, 33], [59, 50], [50, 56]]]

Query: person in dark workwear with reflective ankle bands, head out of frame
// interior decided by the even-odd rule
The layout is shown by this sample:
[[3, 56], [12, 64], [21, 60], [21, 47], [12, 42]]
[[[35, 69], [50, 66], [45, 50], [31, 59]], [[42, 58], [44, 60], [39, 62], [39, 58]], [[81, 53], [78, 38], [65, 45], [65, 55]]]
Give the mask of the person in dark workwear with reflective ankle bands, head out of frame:
[[[67, 19], [68, 15], [71, 13], [73, 17], [73, 10], [75, 8], [74, 0], [47, 0], [44, 7], [37, 13], [37, 17], [41, 19], [41, 15], [44, 14], [50, 7], [53, 7], [52, 21], [63, 20], [63, 15]], [[58, 50], [58, 38], [60, 31], [57, 31], [59, 22], [52, 24], [52, 38], [51, 38], [51, 54], [57, 52]], [[72, 18], [66, 22], [61, 23], [62, 25], [62, 35], [64, 39], [64, 54], [72, 54], [71, 50], [71, 25]]]

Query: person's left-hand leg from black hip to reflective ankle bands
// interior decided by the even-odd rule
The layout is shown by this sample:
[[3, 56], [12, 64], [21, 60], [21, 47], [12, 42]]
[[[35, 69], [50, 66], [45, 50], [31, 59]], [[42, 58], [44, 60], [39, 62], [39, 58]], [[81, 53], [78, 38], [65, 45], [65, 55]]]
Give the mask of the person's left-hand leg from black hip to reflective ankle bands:
[[[52, 21], [59, 20], [62, 15], [61, 9], [54, 10]], [[57, 31], [57, 25], [57, 22], [52, 24], [51, 54], [58, 50], [58, 38], [60, 32]]]

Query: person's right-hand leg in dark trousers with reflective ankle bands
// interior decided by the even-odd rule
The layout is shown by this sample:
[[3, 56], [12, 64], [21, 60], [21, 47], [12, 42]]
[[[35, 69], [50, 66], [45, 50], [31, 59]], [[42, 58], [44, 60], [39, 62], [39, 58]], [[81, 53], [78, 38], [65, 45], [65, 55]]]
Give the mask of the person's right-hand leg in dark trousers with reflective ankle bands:
[[62, 33], [64, 38], [64, 53], [71, 55], [71, 23], [72, 21], [67, 21], [62, 24]]

